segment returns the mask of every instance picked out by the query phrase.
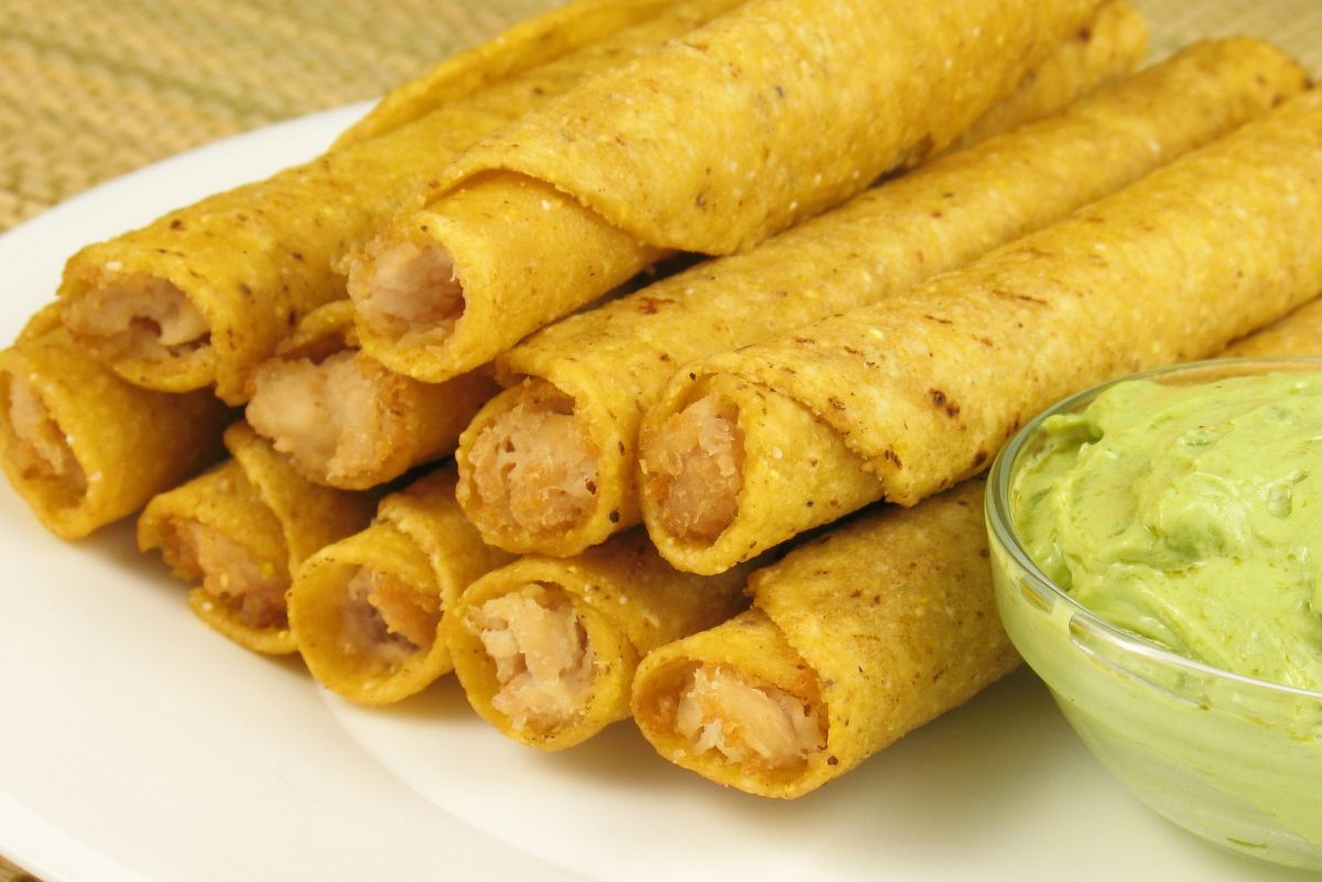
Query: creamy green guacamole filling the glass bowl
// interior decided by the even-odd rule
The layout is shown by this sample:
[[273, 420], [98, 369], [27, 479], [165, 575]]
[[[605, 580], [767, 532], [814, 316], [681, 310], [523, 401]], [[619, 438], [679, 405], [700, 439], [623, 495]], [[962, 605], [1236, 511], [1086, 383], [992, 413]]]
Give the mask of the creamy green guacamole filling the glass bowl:
[[1322, 691], [1322, 372], [1120, 383], [1043, 429], [1011, 507], [1047, 576], [1181, 655]]

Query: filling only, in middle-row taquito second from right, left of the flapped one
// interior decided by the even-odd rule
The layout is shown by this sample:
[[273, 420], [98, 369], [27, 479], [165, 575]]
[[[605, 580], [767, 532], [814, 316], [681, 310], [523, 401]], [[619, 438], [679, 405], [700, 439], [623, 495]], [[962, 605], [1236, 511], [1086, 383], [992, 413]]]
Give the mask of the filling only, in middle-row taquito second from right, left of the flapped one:
[[596, 500], [596, 450], [574, 401], [542, 386], [479, 432], [468, 457], [476, 518], [496, 532], [562, 531]]

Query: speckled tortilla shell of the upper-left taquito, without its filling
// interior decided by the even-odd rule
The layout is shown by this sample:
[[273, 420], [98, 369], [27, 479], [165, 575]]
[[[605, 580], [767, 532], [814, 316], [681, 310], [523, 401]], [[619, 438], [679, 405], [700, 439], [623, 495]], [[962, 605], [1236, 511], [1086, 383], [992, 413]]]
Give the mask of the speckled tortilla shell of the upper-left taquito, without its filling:
[[[693, 18], [683, 21], [687, 28]], [[422, 205], [455, 156], [547, 96], [672, 33], [648, 25], [644, 17], [642, 26], [603, 44], [453, 95], [381, 137], [353, 141], [263, 182], [209, 197], [93, 244], [67, 263], [59, 294], [73, 301], [119, 281], [168, 280], [205, 318], [209, 347], [189, 360], [116, 358], [108, 363], [139, 386], [181, 392], [214, 384], [222, 399], [242, 404], [250, 372], [297, 321], [346, 296], [337, 261], [406, 205]], [[475, 88], [480, 79], [475, 73]]]

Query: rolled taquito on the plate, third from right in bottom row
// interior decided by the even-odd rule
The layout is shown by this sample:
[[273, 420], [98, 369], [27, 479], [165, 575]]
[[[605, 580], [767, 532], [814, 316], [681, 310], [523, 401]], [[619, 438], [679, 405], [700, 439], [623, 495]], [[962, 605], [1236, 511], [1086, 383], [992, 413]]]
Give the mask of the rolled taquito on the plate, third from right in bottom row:
[[370, 527], [323, 548], [290, 588], [290, 626], [312, 676], [368, 705], [451, 671], [440, 622], [476, 578], [512, 561], [455, 502], [452, 465], [381, 500]]

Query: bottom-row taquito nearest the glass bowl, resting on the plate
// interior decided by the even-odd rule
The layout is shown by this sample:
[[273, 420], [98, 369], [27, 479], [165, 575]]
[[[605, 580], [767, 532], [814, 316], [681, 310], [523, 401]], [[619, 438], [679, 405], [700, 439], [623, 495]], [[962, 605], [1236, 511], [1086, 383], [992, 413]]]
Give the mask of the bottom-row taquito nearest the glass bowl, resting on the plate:
[[843, 524], [748, 590], [747, 613], [648, 655], [632, 698], [657, 753], [748, 794], [802, 796], [1019, 663], [981, 481]]

